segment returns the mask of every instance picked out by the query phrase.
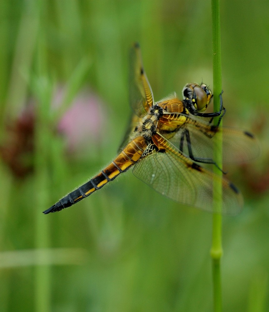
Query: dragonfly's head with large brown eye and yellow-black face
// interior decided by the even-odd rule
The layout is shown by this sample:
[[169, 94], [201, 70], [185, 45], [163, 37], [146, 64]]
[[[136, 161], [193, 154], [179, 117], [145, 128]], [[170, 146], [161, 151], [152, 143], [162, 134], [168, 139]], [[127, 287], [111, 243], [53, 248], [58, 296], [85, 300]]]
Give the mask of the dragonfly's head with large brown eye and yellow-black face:
[[183, 88], [182, 93], [184, 99], [191, 101], [192, 105], [198, 112], [203, 112], [207, 109], [210, 99], [212, 97], [211, 91], [205, 84], [187, 84]]

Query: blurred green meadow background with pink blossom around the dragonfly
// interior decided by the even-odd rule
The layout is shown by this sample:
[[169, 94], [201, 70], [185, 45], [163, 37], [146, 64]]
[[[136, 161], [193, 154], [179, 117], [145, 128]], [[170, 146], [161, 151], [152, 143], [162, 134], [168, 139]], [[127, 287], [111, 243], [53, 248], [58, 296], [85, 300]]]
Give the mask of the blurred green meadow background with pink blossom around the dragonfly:
[[[221, 3], [224, 124], [261, 157], [229, 166], [245, 197], [223, 219], [224, 311], [268, 311], [269, 2]], [[0, 310], [212, 311], [212, 215], [125, 173], [43, 215], [116, 156], [139, 41], [155, 100], [212, 80], [209, 1], [0, 3]], [[117, 182], [116, 182], [117, 181]]]

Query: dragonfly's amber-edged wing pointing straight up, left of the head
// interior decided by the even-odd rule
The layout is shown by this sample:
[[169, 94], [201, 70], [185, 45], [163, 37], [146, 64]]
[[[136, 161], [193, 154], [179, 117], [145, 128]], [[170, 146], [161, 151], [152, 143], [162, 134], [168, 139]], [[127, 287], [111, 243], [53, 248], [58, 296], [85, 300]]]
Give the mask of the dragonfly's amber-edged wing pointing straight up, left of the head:
[[140, 46], [135, 43], [130, 50], [129, 96], [133, 112], [139, 117], [154, 104], [153, 93], [144, 71]]

